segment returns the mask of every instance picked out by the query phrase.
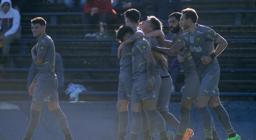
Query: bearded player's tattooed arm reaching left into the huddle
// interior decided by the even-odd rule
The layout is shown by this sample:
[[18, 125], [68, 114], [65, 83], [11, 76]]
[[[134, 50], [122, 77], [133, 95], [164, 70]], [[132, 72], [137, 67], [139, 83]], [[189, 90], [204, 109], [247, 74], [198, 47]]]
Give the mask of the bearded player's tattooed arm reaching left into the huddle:
[[152, 50], [154, 50], [155, 52], [158, 52], [160, 54], [164, 54], [166, 56], [172, 56], [174, 54], [176, 54], [177, 51], [179, 51], [182, 48], [181, 45], [178, 44], [174, 44], [172, 45], [172, 47], [170, 48], [161, 48], [161, 47], [157, 47], [152, 45]]

